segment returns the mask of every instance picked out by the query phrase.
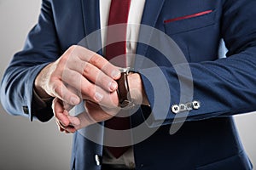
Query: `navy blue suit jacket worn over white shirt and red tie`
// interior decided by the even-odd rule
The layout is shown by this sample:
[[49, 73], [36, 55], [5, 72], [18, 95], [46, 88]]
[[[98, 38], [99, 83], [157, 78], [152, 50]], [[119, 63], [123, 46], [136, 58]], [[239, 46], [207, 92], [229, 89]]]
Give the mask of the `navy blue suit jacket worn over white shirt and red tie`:
[[[100, 28], [98, 7], [98, 0], [43, 0], [37, 26], [29, 33], [25, 48], [15, 54], [3, 77], [1, 100], [9, 113], [31, 120], [36, 117], [42, 122], [53, 116], [50, 105], [38, 110], [32, 99], [33, 81], [45, 65]], [[148, 108], [142, 108], [131, 116], [133, 127], [148, 116], [148, 128], [158, 127], [148, 139], [133, 145], [137, 169], [252, 169], [232, 115], [256, 111], [255, 8], [256, 1], [252, 0], [146, 2], [142, 24], [172, 37], [188, 63], [166, 65], [166, 57], [157, 49], [145, 43], [137, 46], [137, 54], [158, 65], [166, 77], [163, 87], [170, 92], [168, 98], [163, 95], [158, 99], [168, 106], [168, 110], [162, 111], [158, 105], [151, 115]], [[140, 32], [140, 38], [148, 37], [148, 42], [152, 36]], [[94, 40], [83, 44], [87, 48], [90, 44], [100, 45], [100, 37]], [[221, 40], [228, 49], [224, 59], [219, 55]], [[166, 46], [161, 39], [157, 44]], [[102, 54], [101, 50], [97, 52]], [[189, 86], [191, 77], [182, 71], [188, 65], [193, 86]], [[180, 71], [177, 68], [181, 68]], [[155, 67], [137, 61], [136, 70], [147, 75], [142, 76], [144, 88], [150, 105], [156, 105], [150, 83], [151, 78], [158, 81]], [[183, 88], [193, 89], [191, 99], [181, 99], [180, 96], [186, 95], [179, 90], [180, 84]], [[200, 109], [177, 115], [172, 112], [172, 105], [195, 99], [201, 102]], [[186, 116], [183, 126], [171, 135], [170, 127], [182, 122]], [[90, 127], [83, 130], [90, 133]], [[103, 133], [99, 129], [95, 135], [101, 139]], [[71, 166], [101, 169], [95, 156], [102, 156], [102, 145], [75, 133]]]

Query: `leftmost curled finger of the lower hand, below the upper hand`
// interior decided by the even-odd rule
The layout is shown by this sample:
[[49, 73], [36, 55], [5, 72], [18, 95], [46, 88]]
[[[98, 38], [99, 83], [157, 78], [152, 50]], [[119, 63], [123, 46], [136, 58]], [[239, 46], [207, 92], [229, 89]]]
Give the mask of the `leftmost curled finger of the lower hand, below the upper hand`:
[[67, 127], [69, 125], [69, 120], [67, 118], [67, 111], [64, 110], [62, 102], [60, 99], [55, 98], [53, 100], [53, 111], [55, 114], [55, 118], [57, 119], [58, 122], [61, 122], [61, 125], [64, 127]]

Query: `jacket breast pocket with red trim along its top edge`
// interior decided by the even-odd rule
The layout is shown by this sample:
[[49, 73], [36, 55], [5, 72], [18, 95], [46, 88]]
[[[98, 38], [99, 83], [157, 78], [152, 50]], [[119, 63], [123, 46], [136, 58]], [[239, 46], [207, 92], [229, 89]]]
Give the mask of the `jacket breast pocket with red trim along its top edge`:
[[212, 26], [214, 25], [215, 15], [215, 10], [206, 10], [195, 14], [164, 20], [166, 34], [173, 35]]

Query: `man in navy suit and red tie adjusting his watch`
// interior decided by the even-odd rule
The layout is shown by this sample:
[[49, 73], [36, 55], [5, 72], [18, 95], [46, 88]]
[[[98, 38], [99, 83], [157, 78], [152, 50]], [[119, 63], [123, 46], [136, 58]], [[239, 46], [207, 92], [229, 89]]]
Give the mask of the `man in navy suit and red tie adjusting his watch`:
[[[117, 23], [128, 25], [115, 31], [119, 35], [125, 29], [126, 37], [137, 37], [138, 43], [126, 42], [125, 56], [118, 61], [105, 45], [125, 39], [108, 42], [113, 33], [97, 33], [115, 25], [109, 24], [110, 16], [119, 14], [111, 12], [123, 5], [113, 2], [44, 0], [38, 25], [3, 77], [3, 107], [42, 122], [55, 115], [61, 131], [74, 133], [73, 169], [252, 169], [232, 115], [256, 111], [256, 2], [122, 1], [128, 4], [122, 9], [128, 18]], [[139, 23], [140, 31], [129, 25]], [[165, 32], [163, 38], [159, 31]], [[177, 49], [170, 38], [184, 55], [171, 61], [166, 55]], [[222, 39], [228, 48], [225, 59], [218, 54]], [[118, 67], [124, 67], [119, 63], [124, 59], [125, 67], [135, 70], [126, 76]], [[145, 64], [147, 59], [154, 65]], [[120, 89], [124, 83], [128, 89]], [[113, 116], [130, 111], [131, 136], [123, 137], [131, 143], [109, 139]], [[143, 122], [146, 130], [137, 133], [135, 127]], [[127, 127], [116, 129], [125, 133]], [[126, 150], [114, 156], [111, 146]]]

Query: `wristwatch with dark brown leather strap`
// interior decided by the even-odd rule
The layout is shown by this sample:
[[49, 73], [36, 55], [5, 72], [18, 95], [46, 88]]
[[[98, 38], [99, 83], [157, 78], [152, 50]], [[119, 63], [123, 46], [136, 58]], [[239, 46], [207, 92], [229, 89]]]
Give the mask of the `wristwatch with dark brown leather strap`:
[[130, 67], [127, 68], [122, 68], [120, 69], [121, 71], [121, 77], [117, 80], [118, 83], [118, 89], [117, 94], [119, 97], [119, 107], [120, 108], [130, 108], [131, 106], [134, 105], [131, 99], [131, 94], [130, 94], [130, 88], [128, 84], [128, 75], [131, 72]]

